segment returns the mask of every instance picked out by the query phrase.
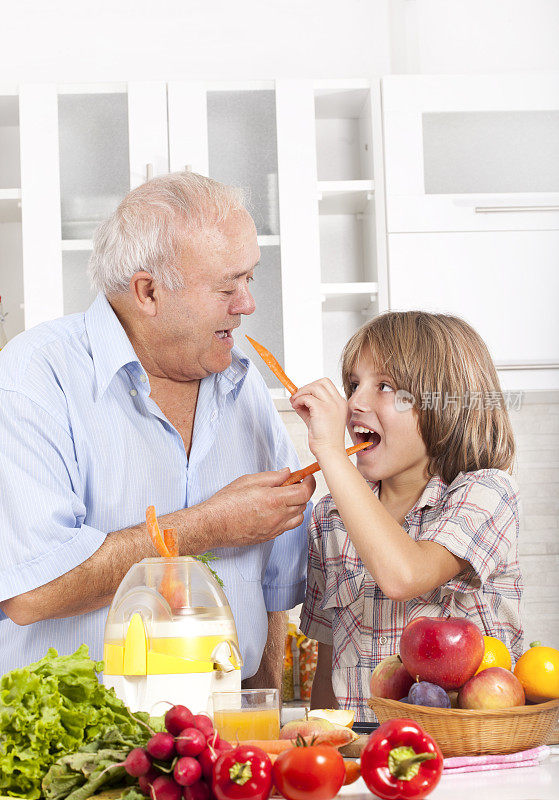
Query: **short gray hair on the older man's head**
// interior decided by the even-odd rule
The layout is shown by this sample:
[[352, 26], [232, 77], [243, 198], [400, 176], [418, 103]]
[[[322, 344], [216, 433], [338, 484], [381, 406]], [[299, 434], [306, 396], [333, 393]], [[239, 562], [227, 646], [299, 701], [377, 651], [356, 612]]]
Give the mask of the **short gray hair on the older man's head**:
[[125, 292], [143, 270], [171, 291], [184, 288], [179, 265], [186, 237], [244, 207], [242, 189], [195, 172], [153, 178], [127, 194], [95, 231], [92, 286], [105, 294]]

